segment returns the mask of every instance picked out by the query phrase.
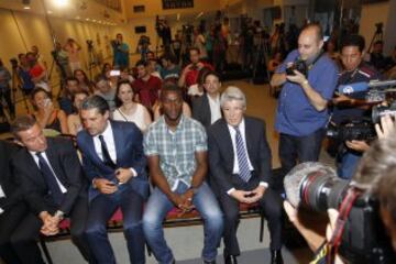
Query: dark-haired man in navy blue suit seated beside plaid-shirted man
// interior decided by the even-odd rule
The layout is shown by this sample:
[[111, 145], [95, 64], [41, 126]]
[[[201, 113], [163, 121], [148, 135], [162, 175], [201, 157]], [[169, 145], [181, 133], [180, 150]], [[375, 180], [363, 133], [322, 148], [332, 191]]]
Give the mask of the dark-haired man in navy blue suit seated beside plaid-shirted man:
[[148, 196], [143, 135], [131, 122], [109, 121], [109, 106], [99, 96], [81, 106], [85, 130], [77, 134], [82, 167], [91, 182], [87, 235], [99, 263], [116, 263], [106, 226], [121, 207], [130, 262], [145, 263], [143, 202]]

